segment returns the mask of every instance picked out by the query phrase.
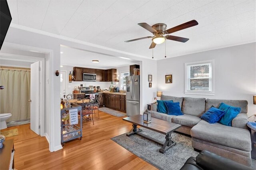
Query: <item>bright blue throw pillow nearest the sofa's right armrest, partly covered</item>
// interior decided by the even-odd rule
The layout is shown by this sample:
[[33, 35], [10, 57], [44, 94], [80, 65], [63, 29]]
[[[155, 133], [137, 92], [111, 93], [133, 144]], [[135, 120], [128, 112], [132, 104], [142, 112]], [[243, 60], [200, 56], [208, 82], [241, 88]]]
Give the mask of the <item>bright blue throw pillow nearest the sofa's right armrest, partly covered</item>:
[[220, 119], [219, 123], [226, 126], [232, 126], [232, 120], [240, 113], [240, 107], [233, 107], [220, 103], [219, 109], [225, 111], [224, 116]]

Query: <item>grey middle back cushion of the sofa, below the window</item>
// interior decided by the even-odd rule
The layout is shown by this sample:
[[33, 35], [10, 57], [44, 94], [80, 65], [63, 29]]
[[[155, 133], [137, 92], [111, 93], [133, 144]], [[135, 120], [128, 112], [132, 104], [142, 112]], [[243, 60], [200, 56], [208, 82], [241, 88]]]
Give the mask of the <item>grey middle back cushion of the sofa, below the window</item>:
[[205, 113], [205, 101], [205, 98], [184, 97], [182, 113], [198, 117], [201, 116]]

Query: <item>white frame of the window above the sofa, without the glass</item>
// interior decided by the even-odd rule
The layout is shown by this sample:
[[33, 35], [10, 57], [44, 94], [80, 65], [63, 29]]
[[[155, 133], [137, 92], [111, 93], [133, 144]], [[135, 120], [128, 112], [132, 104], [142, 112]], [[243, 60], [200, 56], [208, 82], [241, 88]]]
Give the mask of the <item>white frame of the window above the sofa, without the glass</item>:
[[[209, 67], [209, 91], [190, 90], [190, 66], [210, 64]], [[190, 95], [214, 95], [214, 60], [196, 61], [185, 63], [185, 94]]]

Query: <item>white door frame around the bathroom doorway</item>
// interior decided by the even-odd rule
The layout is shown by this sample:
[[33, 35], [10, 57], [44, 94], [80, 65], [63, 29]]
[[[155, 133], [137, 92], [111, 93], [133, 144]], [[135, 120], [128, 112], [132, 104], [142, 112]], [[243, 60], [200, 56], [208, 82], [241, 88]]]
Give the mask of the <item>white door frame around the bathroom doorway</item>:
[[[32, 56], [26, 56], [26, 55], [14, 55], [14, 57], [20, 58], [22, 57], [22, 61], [24, 60], [28, 60], [28, 61], [41, 61], [42, 64], [42, 68], [41, 68], [41, 77], [42, 77], [42, 81], [41, 82], [45, 82], [46, 85], [48, 84], [48, 88], [46, 88], [45, 83], [41, 83], [40, 86], [40, 91], [41, 91], [41, 98], [40, 101], [42, 102], [42, 106], [40, 108], [40, 135], [41, 136], [45, 136], [48, 143], [49, 143], [49, 150], [50, 152], [54, 152], [55, 150], [59, 150], [62, 148], [62, 146], [58, 146], [58, 147], [54, 147], [54, 107], [53, 107], [53, 74], [51, 74], [53, 72], [53, 50], [51, 49], [44, 49], [44, 48], [40, 48], [40, 47], [33, 47], [33, 46], [28, 46], [28, 45], [21, 45], [21, 44], [16, 44], [16, 43], [9, 43], [9, 42], [5, 42], [4, 47], [10, 47], [13, 49], [19, 49], [19, 50], [24, 50], [24, 51], [33, 51], [33, 52], [37, 52], [37, 53], [44, 53], [45, 57], [32, 57]], [[48, 59], [46, 59], [48, 58]], [[46, 75], [45, 74], [45, 67], [46, 65], [49, 66], [50, 71], [49, 73]], [[48, 76], [49, 79], [47, 80], [47, 82], [45, 81], [45, 77]], [[49, 94], [49, 100], [46, 101], [45, 99], [45, 94]], [[45, 108], [46, 106], [48, 107], [48, 110], [50, 110], [50, 112], [46, 112]], [[49, 117], [49, 121], [46, 121], [46, 117]], [[45, 126], [48, 127], [48, 129], [50, 129], [49, 133], [45, 132]]]

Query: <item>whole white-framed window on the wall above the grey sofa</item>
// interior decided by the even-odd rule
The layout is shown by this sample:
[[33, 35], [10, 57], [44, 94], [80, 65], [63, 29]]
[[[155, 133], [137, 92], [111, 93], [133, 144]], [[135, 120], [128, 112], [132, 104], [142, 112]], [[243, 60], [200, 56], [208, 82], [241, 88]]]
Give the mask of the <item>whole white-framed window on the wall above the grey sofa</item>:
[[214, 95], [214, 60], [185, 63], [185, 94]]

